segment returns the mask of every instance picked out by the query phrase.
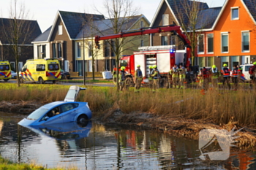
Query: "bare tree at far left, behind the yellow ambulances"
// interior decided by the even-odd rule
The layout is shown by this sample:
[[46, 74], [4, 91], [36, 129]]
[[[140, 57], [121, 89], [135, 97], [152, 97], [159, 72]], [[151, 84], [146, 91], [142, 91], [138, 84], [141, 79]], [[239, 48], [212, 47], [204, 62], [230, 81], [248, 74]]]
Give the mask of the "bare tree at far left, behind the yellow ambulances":
[[20, 86], [19, 74], [18, 74], [18, 62], [20, 58], [20, 47], [25, 46], [26, 42], [31, 42], [31, 31], [34, 26], [28, 20], [29, 10], [26, 9], [25, 4], [21, 3], [18, 7], [18, 0], [10, 2], [10, 19], [3, 25], [3, 36], [10, 45], [10, 50], [15, 56], [15, 67], [17, 72], [17, 85]]

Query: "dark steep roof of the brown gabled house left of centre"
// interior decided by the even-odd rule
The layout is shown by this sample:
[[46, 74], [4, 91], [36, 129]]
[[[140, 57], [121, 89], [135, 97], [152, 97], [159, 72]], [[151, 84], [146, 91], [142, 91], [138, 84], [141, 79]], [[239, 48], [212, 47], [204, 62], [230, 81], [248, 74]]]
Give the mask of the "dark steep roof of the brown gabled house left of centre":
[[81, 28], [83, 27], [83, 23], [87, 20], [105, 19], [103, 15], [93, 15], [78, 12], [59, 11], [59, 14], [61, 15], [61, 18], [67, 28], [67, 32], [71, 39], [75, 39], [75, 37], [78, 35]]

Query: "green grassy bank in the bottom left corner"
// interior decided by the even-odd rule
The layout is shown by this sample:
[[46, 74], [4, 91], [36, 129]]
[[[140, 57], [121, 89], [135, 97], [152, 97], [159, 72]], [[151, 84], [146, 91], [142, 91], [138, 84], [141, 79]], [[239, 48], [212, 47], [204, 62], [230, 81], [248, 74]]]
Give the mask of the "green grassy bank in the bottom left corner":
[[7, 159], [4, 159], [0, 156], [0, 169], [4, 170], [76, 170], [75, 167], [69, 168], [54, 168], [54, 169], [47, 169], [44, 166], [39, 166], [37, 163], [13, 163]]

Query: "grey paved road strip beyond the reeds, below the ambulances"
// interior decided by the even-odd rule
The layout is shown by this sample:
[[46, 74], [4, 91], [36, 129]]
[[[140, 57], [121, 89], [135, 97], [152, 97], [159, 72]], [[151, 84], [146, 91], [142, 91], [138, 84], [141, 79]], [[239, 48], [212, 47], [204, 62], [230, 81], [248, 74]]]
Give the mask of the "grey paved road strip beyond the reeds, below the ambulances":
[[[3, 80], [0, 80], [0, 84], [4, 83], [16, 83], [16, 80], [8, 80], [8, 82], [4, 82]], [[29, 83], [29, 82], [26, 82]], [[35, 82], [31, 82], [35, 83]], [[52, 82], [45, 82], [45, 84], [53, 84]], [[83, 82], [57, 82], [57, 85], [83, 85]], [[114, 87], [115, 85], [111, 83], [87, 83], [86, 85], [93, 85], [93, 86], [101, 86], [101, 87]]]

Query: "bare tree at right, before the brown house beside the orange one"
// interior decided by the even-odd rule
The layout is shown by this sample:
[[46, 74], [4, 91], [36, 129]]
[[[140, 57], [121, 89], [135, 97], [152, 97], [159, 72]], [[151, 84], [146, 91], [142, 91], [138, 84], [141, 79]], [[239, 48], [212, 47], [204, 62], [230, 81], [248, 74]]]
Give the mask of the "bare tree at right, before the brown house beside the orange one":
[[[191, 42], [192, 65], [195, 64], [195, 53], [197, 51], [197, 42], [200, 40], [199, 35], [206, 24], [209, 23], [207, 16], [203, 15], [203, 9], [207, 9], [206, 3], [195, 0], [178, 0], [175, 1], [175, 9], [178, 14], [176, 17], [182, 30], [187, 34]], [[198, 27], [199, 26], [199, 27]]]

